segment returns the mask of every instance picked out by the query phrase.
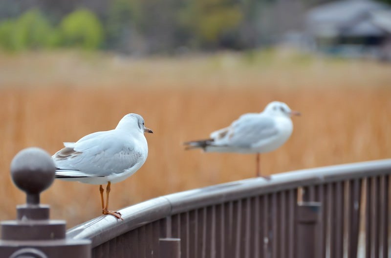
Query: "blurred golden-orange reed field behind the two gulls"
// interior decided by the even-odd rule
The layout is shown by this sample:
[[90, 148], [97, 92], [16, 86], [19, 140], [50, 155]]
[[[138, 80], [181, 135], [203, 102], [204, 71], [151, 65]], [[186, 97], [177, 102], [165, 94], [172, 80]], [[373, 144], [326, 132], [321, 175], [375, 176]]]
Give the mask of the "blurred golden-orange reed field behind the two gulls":
[[[24, 195], [9, 164], [22, 148], [53, 154], [64, 141], [109, 130], [141, 114], [154, 134], [149, 156], [112, 185], [110, 208], [251, 178], [255, 155], [184, 151], [272, 100], [302, 112], [280, 149], [261, 155], [264, 174], [391, 157], [391, 65], [330, 60], [290, 51], [125, 59], [110, 54], [0, 54], [0, 219], [14, 219]], [[96, 185], [55, 180], [42, 195], [68, 227], [100, 216]]]

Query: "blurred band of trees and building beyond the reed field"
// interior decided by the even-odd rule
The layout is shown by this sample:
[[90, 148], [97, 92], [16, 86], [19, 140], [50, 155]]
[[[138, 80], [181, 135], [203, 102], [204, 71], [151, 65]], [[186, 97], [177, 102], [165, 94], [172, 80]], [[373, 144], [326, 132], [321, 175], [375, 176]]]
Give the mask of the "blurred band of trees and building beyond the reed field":
[[[2, 0], [8, 51], [81, 47], [126, 54], [244, 50], [282, 40], [381, 44], [390, 0]], [[321, 8], [316, 8], [323, 6]], [[336, 33], [336, 30], [338, 32]], [[314, 42], [312, 42], [315, 40]], [[341, 39], [338, 39], [341, 40]]]

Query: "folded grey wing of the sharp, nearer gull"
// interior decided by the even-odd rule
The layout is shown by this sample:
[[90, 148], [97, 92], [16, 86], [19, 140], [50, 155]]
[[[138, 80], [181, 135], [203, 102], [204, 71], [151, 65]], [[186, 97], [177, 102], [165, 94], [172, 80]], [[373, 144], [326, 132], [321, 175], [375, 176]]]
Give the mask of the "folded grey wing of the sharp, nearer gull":
[[65, 148], [53, 155], [59, 169], [57, 174], [72, 176], [75, 171], [80, 172], [75, 173], [76, 177], [119, 174], [136, 165], [143, 156], [134, 142], [124, 139], [115, 130], [82, 139], [74, 144], [66, 143]]

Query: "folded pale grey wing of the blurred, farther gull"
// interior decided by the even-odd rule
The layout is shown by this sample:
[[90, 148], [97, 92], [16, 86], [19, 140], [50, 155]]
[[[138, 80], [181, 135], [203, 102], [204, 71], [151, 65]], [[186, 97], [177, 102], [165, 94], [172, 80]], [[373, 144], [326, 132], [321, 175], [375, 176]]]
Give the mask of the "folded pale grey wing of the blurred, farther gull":
[[249, 148], [262, 139], [267, 139], [277, 133], [278, 129], [273, 118], [249, 113], [235, 120], [222, 138], [215, 139], [213, 145]]

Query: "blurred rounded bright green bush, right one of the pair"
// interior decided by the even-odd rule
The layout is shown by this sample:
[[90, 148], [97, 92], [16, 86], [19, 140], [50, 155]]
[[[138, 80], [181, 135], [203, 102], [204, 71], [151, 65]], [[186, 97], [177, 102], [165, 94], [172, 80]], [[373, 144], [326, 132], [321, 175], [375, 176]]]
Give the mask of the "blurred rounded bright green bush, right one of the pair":
[[102, 45], [103, 27], [98, 18], [86, 9], [79, 9], [66, 16], [60, 24], [62, 43], [93, 50]]

